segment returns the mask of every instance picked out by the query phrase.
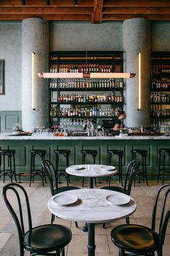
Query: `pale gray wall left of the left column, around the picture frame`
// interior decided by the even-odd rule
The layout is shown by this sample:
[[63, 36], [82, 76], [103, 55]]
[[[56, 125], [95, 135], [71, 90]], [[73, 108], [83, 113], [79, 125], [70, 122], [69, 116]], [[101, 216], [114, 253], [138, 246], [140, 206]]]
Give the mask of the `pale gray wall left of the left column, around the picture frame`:
[[0, 111], [22, 109], [22, 23], [0, 22], [0, 59], [5, 60], [5, 95]]

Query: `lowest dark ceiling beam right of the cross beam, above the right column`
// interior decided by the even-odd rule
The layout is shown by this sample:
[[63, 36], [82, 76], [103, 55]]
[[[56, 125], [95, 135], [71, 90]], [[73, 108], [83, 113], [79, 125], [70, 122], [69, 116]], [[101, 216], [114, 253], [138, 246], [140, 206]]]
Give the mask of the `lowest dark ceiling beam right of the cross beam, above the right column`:
[[170, 21], [170, 14], [103, 14], [103, 21], [128, 20], [132, 18], [146, 18], [148, 20]]

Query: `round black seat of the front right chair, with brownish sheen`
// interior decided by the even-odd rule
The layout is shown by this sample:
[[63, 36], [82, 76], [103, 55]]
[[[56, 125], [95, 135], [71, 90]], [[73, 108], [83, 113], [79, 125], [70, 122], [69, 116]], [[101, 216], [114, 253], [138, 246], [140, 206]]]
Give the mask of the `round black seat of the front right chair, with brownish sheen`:
[[158, 234], [146, 226], [120, 225], [111, 231], [112, 242], [128, 252], [144, 253], [158, 249]]

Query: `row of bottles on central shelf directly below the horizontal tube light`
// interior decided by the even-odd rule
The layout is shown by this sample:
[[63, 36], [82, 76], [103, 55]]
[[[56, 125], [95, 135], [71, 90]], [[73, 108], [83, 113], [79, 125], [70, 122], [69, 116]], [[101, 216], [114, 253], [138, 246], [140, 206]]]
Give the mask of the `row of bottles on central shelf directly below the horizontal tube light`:
[[50, 80], [50, 88], [123, 88], [123, 81], [109, 80], [89, 80], [89, 79], [68, 79], [68, 80]]

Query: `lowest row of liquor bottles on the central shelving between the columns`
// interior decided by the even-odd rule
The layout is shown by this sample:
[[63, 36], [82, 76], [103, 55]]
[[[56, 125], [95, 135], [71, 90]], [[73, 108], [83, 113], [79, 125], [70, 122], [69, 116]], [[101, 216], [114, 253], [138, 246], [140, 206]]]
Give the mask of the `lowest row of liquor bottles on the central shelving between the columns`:
[[117, 116], [119, 108], [97, 108], [97, 106], [90, 106], [85, 108], [60, 108], [56, 106], [51, 108], [51, 117], [98, 117], [98, 116]]

